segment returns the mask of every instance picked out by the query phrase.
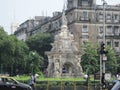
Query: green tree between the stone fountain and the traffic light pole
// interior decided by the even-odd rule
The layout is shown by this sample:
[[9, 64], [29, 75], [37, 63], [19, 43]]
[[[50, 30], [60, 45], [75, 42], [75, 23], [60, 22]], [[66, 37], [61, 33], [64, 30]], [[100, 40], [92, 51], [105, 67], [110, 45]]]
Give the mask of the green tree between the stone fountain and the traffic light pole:
[[83, 71], [94, 74], [99, 71], [99, 56], [97, 54], [97, 45], [85, 42], [83, 45], [84, 54], [81, 57]]

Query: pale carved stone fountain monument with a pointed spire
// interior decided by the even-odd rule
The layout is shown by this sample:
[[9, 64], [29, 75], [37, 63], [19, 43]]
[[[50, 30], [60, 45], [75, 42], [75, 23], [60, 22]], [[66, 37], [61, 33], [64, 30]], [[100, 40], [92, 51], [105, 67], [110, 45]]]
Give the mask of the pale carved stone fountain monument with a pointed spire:
[[46, 52], [48, 56], [48, 77], [83, 77], [81, 52], [78, 42], [67, 27], [67, 19], [63, 12], [60, 33], [55, 35], [52, 49]]

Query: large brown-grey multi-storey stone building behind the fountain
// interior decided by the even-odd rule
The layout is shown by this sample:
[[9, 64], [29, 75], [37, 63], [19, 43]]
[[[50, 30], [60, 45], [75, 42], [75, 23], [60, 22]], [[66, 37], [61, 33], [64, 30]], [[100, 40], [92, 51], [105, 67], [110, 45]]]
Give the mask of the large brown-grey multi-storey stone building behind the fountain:
[[[82, 45], [85, 41], [101, 43], [103, 40], [103, 22], [105, 13], [105, 43], [120, 52], [120, 6], [97, 5], [96, 0], [67, 0], [66, 17], [68, 29], [75, 40]], [[31, 32], [50, 32], [57, 34], [61, 27], [60, 12], [54, 13], [49, 20], [32, 28]]]

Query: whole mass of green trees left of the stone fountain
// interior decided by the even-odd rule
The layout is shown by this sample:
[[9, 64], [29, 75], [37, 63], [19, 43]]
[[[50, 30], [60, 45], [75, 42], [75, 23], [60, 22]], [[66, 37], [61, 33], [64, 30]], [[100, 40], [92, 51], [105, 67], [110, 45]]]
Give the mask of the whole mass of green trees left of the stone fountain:
[[30, 48], [14, 35], [7, 35], [0, 27], [0, 67], [3, 71], [0, 73], [16, 75], [40, 71], [43, 58], [39, 54], [42, 55], [50, 49], [50, 35], [40, 34], [32, 36], [29, 40]]

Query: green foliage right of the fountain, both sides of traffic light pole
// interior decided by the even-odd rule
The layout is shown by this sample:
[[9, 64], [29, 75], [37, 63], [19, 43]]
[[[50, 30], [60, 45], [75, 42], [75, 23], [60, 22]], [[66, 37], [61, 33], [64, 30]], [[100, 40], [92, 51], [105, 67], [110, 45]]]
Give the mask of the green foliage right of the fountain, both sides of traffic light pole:
[[[93, 45], [89, 42], [86, 42], [83, 46], [84, 54], [81, 57], [81, 65], [83, 67], [83, 71], [86, 71], [86, 73], [94, 74], [99, 72], [100, 54], [97, 53], [98, 48], [98, 45]], [[112, 74], [115, 74], [118, 67], [116, 53], [109, 46], [106, 46], [106, 50], [108, 51], [105, 66], [106, 72], [111, 72]]]

